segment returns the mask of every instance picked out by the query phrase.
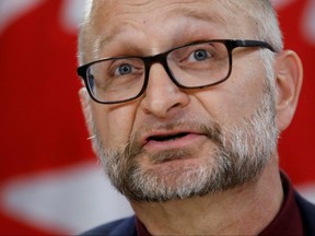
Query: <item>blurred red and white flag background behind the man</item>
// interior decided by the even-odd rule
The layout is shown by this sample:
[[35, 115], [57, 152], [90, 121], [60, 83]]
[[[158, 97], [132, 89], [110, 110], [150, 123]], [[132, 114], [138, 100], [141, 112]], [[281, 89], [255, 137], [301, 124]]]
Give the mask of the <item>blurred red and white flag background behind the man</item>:
[[[315, 202], [315, 0], [273, 0], [304, 63], [280, 165]], [[69, 235], [132, 214], [93, 155], [78, 90], [85, 0], [0, 0], [0, 234]], [[314, 145], [314, 146], [313, 146]]]

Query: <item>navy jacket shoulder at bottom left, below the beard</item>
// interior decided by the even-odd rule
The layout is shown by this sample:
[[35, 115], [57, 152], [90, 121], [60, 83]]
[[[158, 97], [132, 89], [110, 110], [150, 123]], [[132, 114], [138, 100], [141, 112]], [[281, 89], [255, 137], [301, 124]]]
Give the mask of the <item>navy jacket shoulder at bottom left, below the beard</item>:
[[109, 222], [92, 228], [88, 232], [81, 234], [81, 236], [92, 236], [92, 235], [106, 235], [106, 236], [137, 236], [136, 232], [136, 217], [130, 216], [126, 219], [120, 219], [114, 222]]

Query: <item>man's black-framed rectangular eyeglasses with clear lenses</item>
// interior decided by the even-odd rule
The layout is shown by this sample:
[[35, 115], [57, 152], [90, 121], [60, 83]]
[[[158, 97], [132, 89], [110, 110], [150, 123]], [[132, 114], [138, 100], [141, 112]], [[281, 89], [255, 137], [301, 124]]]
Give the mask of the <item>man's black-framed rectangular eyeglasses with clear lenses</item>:
[[103, 58], [79, 67], [78, 74], [95, 102], [125, 103], [143, 94], [153, 63], [161, 63], [180, 88], [202, 88], [222, 83], [231, 74], [232, 51], [237, 47], [267, 48], [275, 52], [269, 44], [259, 40], [205, 40], [151, 57]]

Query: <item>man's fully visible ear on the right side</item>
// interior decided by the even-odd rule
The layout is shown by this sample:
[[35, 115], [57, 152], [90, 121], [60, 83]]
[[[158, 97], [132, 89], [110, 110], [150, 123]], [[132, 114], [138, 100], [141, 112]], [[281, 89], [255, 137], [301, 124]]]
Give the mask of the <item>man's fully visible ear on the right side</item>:
[[295, 114], [301, 86], [303, 68], [299, 56], [292, 50], [284, 50], [276, 58], [276, 108], [277, 126], [283, 131]]

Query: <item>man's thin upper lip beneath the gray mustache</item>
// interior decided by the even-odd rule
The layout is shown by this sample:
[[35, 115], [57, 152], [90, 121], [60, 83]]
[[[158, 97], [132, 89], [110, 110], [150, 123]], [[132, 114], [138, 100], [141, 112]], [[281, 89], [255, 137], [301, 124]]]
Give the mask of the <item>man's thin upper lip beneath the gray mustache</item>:
[[141, 146], [144, 146], [151, 139], [154, 138], [162, 138], [162, 137], [175, 137], [180, 134], [200, 134], [200, 132], [196, 132], [192, 130], [186, 130], [186, 129], [178, 129], [178, 130], [154, 130], [151, 132], [147, 132], [141, 137]]

